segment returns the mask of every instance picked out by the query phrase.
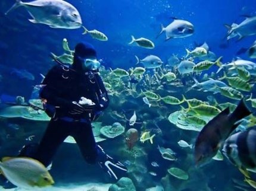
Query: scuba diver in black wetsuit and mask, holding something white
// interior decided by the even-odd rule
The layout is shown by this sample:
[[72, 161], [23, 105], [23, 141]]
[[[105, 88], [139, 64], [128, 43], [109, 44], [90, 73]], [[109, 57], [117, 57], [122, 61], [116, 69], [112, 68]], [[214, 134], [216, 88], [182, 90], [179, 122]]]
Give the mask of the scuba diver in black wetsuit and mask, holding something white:
[[45, 167], [52, 163], [55, 152], [67, 136], [73, 136], [89, 164], [98, 163], [111, 178], [127, 168], [105, 154], [96, 145], [91, 123], [108, 107], [107, 90], [99, 76], [101, 65], [96, 50], [87, 42], [78, 43], [73, 65], [69, 68], [60, 61], [46, 75], [39, 96], [51, 121], [39, 144], [25, 145], [18, 156], [31, 157]]

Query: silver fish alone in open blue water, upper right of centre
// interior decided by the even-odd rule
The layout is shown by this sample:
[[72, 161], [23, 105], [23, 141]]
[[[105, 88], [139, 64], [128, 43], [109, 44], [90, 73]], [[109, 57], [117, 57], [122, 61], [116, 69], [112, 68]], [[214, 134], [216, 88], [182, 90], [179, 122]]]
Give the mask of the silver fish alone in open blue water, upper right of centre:
[[158, 36], [160, 36], [163, 32], [166, 32], [166, 40], [183, 38], [191, 36], [194, 32], [194, 27], [193, 24], [189, 23], [189, 21], [175, 19], [173, 23], [169, 24], [167, 27], [164, 27], [162, 24], [161, 32], [158, 34]]

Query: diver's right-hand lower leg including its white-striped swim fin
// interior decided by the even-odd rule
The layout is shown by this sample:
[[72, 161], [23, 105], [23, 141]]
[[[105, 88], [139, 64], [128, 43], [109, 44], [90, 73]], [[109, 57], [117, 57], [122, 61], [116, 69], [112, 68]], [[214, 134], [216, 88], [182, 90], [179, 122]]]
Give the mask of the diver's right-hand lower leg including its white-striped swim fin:
[[92, 132], [92, 126], [88, 123], [80, 123], [79, 131], [75, 132], [73, 137], [82, 152], [87, 163], [98, 164], [105, 170], [111, 178], [118, 179], [120, 173], [127, 171], [127, 168], [119, 161], [114, 160], [105, 154], [103, 149], [96, 145]]

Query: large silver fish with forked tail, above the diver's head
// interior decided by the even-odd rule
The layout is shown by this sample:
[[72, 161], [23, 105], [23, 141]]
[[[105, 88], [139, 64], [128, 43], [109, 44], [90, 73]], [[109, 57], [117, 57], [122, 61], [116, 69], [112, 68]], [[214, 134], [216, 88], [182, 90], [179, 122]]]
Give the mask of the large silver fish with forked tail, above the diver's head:
[[17, 7], [24, 6], [33, 19], [32, 23], [46, 24], [52, 28], [74, 29], [82, 26], [82, 19], [77, 9], [63, 0], [36, 0], [16, 3], [5, 14]]

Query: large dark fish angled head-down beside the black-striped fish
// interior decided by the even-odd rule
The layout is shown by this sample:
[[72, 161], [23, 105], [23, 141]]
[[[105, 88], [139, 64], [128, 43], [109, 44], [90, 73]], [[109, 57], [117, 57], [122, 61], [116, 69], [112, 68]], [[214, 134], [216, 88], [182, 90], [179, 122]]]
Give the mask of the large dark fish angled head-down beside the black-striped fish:
[[236, 123], [251, 112], [245, 106], [243, 99], [233, 113], [230, 113], [229, 107], [217, 114], [207, 125], [199, 132], [195, 141], [195, 164], [202, 166], [210, 162], [211, 158], [217, 154], [221, 144], [227, 139], [230, 133], [235, 130], [240, 123]]

